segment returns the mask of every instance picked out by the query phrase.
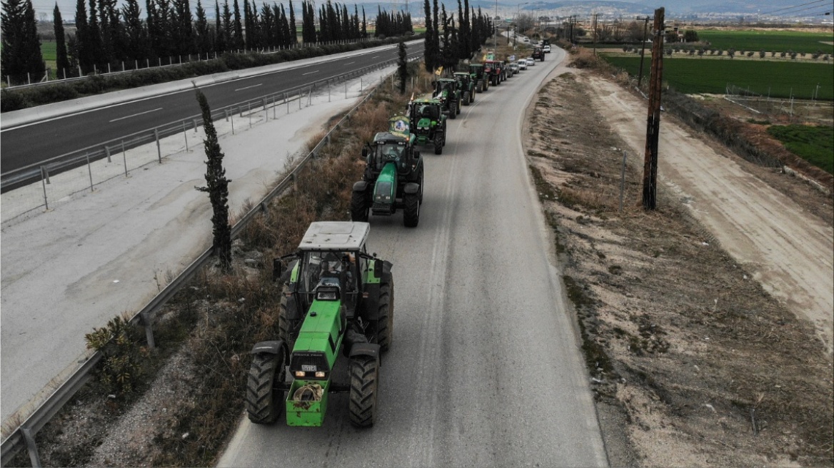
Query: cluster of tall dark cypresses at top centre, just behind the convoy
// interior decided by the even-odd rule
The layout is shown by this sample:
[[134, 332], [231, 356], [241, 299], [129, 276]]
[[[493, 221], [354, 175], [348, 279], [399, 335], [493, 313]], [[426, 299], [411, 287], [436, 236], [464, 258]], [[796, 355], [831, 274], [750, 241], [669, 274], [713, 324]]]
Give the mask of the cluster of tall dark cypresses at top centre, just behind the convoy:
[[[475, 55], [487, 37], [493, 33], [493, 23], [490, 17], [485, 17], [478, 7], [470, 7], [469, 0], [461, 4], [458, 0], [458, 19], [455, 13], [446, 12], [446, 6], [437, 0], [430, 5], [424, 0], [425, 9], [425, 68], [434, 72], [438, 67], [454, 69], [461, 60], [468, 60]], [[442, 31], [442, 36], [441, 36]]]

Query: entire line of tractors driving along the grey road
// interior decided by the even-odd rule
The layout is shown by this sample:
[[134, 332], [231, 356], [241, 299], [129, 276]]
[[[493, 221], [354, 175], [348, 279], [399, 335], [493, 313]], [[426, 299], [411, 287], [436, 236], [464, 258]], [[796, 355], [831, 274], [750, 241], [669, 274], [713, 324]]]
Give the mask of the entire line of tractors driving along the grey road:
[[274, 259], [273, 281], [282, 288], [279, 331], [252, 348], [249, 421], [270, 424], [285, 414], [288, 426], [322, 426], [329, 394], [346, 392], [350, 422], [374, 425], [381, 354], [394, 340], [394, 279], [391, 263], [365, 246], [369, 216], [401, 211], [404, 226], [417, 227], [425, 173], [418, 147], [442, 154], [447, 119], [511, 73], [495, 54], [465, 70], [439, 77], [430, 97], [412, 97], [365, 143], [350, 222], [313, 222], [294, 253]]

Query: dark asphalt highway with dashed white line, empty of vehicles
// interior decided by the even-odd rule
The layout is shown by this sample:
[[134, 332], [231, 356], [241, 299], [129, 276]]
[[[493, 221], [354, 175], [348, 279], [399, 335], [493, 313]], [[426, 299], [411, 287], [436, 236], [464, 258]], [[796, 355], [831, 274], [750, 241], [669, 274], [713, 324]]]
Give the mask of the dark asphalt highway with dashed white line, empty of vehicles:
[[[409, 45], [409, 55], [422, 54], [422, 42]], [[341, 55], [341, 54], [339, 54]], [[202, 87], [212, 108], [284, 92], [311, 82], [336, 77], [397, 57], [396, 45], [351, 57], [324, 58], [322, 62], [244, 77]], [[192, 90], [173, 92], [93, 111], [72, 114], [22, 127], [3, 129], [3, 173], [46, 161], [133, 132], [147, 130], [200, 113]]]

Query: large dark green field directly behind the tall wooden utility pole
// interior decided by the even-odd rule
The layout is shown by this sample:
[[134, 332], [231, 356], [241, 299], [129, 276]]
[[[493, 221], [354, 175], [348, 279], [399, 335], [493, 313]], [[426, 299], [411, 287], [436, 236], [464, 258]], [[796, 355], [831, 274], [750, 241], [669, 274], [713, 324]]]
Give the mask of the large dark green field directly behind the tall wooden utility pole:
[[[615, 67], [633, 76], [640, 70], [640, 57], [606, 56]], [[646, 58], [644, 73], [651, 60]], [[749, 89], [771, 97], [811, 99], [816, 85], [816, 98], [834, 100], [834, 67], [831, 63], [729, 60], [716, 58], [665, 58], [663, 81], [679, 92], [724, 94], [726, 85]]]

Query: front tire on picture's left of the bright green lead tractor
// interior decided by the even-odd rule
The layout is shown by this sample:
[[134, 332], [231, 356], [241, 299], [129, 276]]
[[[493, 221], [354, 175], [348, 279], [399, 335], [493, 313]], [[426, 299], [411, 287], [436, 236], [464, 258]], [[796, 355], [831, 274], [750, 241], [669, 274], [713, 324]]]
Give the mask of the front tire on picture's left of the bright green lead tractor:
[[[284, 391], [276, 388], [284, 381], [284, 352], [262, 353], [252, 358], [246, 381], [246, 413], [255, 424], [272, 424], [284, 409]], [[277, 377], [277, 378], [276, 378]]]

